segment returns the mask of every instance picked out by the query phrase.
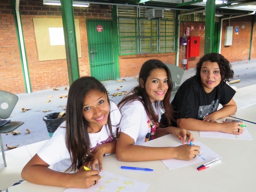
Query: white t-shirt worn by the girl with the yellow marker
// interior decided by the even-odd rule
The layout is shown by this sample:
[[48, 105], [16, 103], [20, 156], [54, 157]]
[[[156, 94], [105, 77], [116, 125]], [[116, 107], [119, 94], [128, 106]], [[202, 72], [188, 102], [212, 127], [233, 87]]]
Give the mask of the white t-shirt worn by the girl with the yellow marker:
[[[113, 135], [116, 137], [116, 129], [119, 127], [121, 121], [121, 113], [116, 104], [110, 101], [110, 119], [112, 125]], [[66, 148], [65, 136], [66, 136], [66, 121], [64, 121], [59, 128], [52, 135], [52, 138], [48, 140], [45, 145], [37, 152], [38, 156], [43, 159], [47, 164], [54, 165], [53, 170], [62, 171], [71, 165], [71, 158], [69, 151]], [[103, 126], [98, 133], [89, 133], [91, 152], [100, 144], [111, 142], [113, 138], [109, 136], [107, 132], [107, 126]], [[81, 143], [82, 145], [82, 143]]]

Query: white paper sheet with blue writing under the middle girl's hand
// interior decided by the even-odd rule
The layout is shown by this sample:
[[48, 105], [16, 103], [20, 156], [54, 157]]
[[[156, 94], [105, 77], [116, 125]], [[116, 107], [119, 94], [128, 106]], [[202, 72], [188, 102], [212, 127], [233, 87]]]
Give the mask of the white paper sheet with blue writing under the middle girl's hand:
[[[219, 159], [222, 158], [216, 152], [212, 151], [211, 149], [209, 149], [199, 141], [195, 141], [193, 142], [193, 144], [201, 147], [201, 149], [199, 150], [200, 154], [197, 155], [195, 158], [192, 158], [190, 161], [178, 160], [178, 159], [166, 159], [166, 160], [162, 160], [163, 163], [166, 165], [166, 167], [169, 170], [171, 170], [171, 169], [186, 167], [186, 166], [190, 166], [198, 163], [205, 164], [206, 162], [211, 161], [215, 158], [219, 158]], [[176, 146], [173, 146], [173, 147], [176, 147]]]

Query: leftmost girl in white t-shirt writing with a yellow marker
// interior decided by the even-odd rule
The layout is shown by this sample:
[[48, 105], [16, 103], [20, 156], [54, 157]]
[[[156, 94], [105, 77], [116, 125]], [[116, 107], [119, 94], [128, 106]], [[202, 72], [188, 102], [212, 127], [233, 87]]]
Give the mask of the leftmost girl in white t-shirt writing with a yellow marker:
[[[88, 188], [100, 179], [104, 154], [114, 153], [121, 113], [106, 88], [93, 77], [81, 77], [69, 89], [66, 121], [26, 164], [24, 180], [40, 185]], [[48, 168], [54, 165], [53, 169]], [[83, 166], [92, 171], [84, 171]], [[63, 173], [61, 170], [76, 171]], [[65, 171], [65, 172], [66, 172]]]

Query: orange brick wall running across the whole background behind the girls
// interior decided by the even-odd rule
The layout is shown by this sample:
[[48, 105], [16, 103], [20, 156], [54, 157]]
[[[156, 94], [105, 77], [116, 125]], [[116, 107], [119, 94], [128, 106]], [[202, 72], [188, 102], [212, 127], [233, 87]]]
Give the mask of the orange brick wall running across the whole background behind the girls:
[[[61, 18], [60, 6], [43, 5], [43, 0], [21, 0], [19, 8], [32, 91], [69, 86], [66, 59], [38, 61], [33, 28], [33, 17]], [[112, 19], [111, 14], [111, 6], [108, 5], [91, 4], [88, 8], [74, 8], [74, 16], [76, 19], [79, 19], [81, 36], [82, 58], [78, 58], [80, 76], [90, 75], [86, 19]], [[242, 17], [230, 20], [232, 26], [239, 26], [239, 34], [233, 34], [232, 46], [224, 46], [225, 26], [227, 26], [228, 21], [224, 20], [223, 22], [221, 53], [230, 62], [247, 60], [249, 58], [251, 18]], [[199, 58], [204, 55], [205, 31], [198, 30], [198, 26], [204, 25], [204, 22], [184, 22], [180, 25], [180, 37], [183, 36], [184, 28], [191, 25], [194, 25], [194, 31], [190, 30], [190, 36], [200, 36], [200, 56], [190, 57], [188, 63], [189, 68], [194, 68]], [[244, 29], [242, 29], [242, 25], [245, 25]], [[180, 47], [179, 66], [181, 68], [183, 68], [181, 61], [185, 58], [186, 51], [182, 55]], [[141, 65], [148, 59], [160, 59], [163, 62], [175, 64], [175, 52], [119, 56], [120, 78], [137, 76]], [[251, 59], [256, 59], [256, 24], [254, 24]], [[25, 92], [12, 0], [0, 0], [0, 85], [1, 89], [15, 94]]]

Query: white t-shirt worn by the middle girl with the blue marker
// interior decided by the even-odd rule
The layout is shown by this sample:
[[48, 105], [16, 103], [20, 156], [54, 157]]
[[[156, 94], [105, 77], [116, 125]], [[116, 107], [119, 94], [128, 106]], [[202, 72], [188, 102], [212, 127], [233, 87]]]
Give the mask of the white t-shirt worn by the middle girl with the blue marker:
[[[159, 120], [161, 117], [160, 102], [153, 102], [152, 106], [156, 114], [158, 114]], [[155, 130], [158, 127], [156, 123], [152, 123], [147, 116], [146, 110], [140, 101], [127, 102], [121, 108], [119, 107], [122, 118], [120, 123], [121, 132], [126, 133], [134, 139], [135, 145], [139, 145], [148, 141], [146, 138], [150, 134], [151, 126], [153, 133], [151, 135], [154, 138]], [[153, 139], [152, 138], [152, 139]]]

